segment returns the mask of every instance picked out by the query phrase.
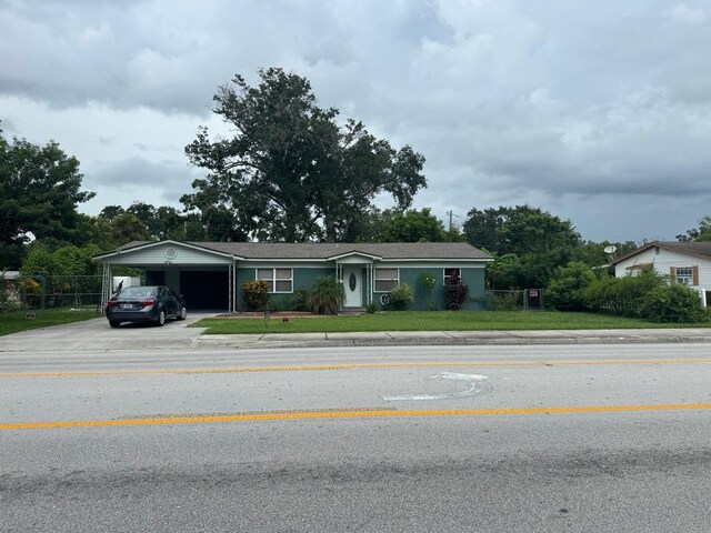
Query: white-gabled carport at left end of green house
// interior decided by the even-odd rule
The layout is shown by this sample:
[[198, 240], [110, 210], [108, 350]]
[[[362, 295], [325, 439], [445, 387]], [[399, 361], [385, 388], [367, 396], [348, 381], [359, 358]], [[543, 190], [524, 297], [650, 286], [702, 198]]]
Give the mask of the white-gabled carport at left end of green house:
[[103, 265], [101, 308], [111, 298], [118, 266], [140, 269], [148, 285], [167, 285], [186, 298], [191, 311], [234, 312], [237, 262], [233, 254], [174, 241], [130, 243], [94, 258]]

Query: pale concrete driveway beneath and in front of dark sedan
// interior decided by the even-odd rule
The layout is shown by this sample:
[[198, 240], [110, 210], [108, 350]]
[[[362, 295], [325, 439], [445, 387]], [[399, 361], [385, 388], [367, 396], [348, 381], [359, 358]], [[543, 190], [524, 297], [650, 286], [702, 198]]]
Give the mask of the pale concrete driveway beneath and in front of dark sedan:
[[188, 326], [207, 316], [212, 314], [191, 313], [184, 321], [169, 320], [162, 328], [140, 323], [111, 328], [106, 318], [91, 319], [0, 336], [0, 352], [189, 350], [204, 329]]

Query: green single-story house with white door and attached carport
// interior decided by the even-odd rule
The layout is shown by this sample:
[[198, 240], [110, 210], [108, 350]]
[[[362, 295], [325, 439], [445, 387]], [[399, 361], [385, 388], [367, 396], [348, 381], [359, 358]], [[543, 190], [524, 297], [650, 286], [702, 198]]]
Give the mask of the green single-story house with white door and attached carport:
[[[94, 258], [103, 264], [102, 306], [111, 296], [112, 271], [132, 266], [146, 284], [164, 284], [184, 295], [189, 309], [237, 312], [246, 303], [242, 283], [269, 283], [270, 300], [292, 298], [323, 275], [346, 289], [344, 309], [381, 301], [400, 283], [415, 290], [413, 309], [444, 309], [444, 282], [452, 275], [469, 285], [464, 309], [483, 309], [484, 266], [493, 258], [463, 242], [417, 243], [264, 243], [140, 241]], [[437, 283], [429, 295], [424, 273]], [[431, 301], [428, 301], [431, 300]]]

